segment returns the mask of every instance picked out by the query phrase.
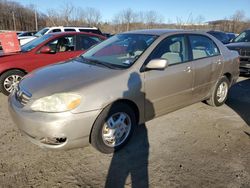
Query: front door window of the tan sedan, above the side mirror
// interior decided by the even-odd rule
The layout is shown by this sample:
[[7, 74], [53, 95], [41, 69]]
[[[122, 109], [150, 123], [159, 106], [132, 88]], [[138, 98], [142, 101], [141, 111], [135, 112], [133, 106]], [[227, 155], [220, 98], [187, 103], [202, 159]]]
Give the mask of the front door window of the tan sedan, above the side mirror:
[[164, 39], [153, 51], [150, 59], [163, 58], [169, 65], [189, 60], [185, 36], [171, 36]]

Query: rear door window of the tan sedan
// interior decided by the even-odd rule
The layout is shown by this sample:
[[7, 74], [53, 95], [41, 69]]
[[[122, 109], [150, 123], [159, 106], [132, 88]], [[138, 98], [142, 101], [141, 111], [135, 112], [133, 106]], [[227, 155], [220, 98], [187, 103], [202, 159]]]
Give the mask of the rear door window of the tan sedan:
[[206, 36], [191, 35], [189, 36], [193, 59], [212, 57], [220, 54], [215, 43]]

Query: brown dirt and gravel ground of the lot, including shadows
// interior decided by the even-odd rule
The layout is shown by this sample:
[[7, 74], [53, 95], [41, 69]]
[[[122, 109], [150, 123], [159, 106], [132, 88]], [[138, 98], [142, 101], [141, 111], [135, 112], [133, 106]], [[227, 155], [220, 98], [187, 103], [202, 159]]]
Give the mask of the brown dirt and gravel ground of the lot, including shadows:
[[114, 155], [47, 151], [22, 136], [0, 94], [0, 187], [250, 187], [250, 80], [227, 104], [197, 103], [137, 128]]

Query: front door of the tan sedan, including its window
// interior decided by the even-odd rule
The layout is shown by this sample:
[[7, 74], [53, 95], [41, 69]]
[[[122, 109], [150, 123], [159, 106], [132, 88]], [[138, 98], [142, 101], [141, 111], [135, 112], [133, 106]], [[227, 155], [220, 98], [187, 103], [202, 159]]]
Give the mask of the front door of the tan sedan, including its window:
[[167, 37], [147, 60], [164, 58], [169, 63], [165, 70], [145, 72], [145, 101], [150, 101], [154, 108], [151, 114], [152, 110], [147, 110], [150, 106], [145, 104], [147, 120], [190, 104], [194, 75], [187, 40], [185, 35]]

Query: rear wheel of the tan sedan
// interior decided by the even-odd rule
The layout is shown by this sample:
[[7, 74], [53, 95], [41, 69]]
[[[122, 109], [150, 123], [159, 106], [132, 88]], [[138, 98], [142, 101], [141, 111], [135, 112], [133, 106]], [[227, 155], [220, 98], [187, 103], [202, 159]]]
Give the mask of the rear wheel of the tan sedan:
[[[223, 88], [223, 91], [222, 91]], [[221, 92], [219, 91], [221, 89]], [[229, 90], [229, 81], [227, 77], [223, 76], [215, 85], [212, 96], [206, 100], [207, 104], [211, 106], [221, 106], [225, 103], [228, 96], [228, 90]], [[219, 92], [220, 95], [219, 96]]]

